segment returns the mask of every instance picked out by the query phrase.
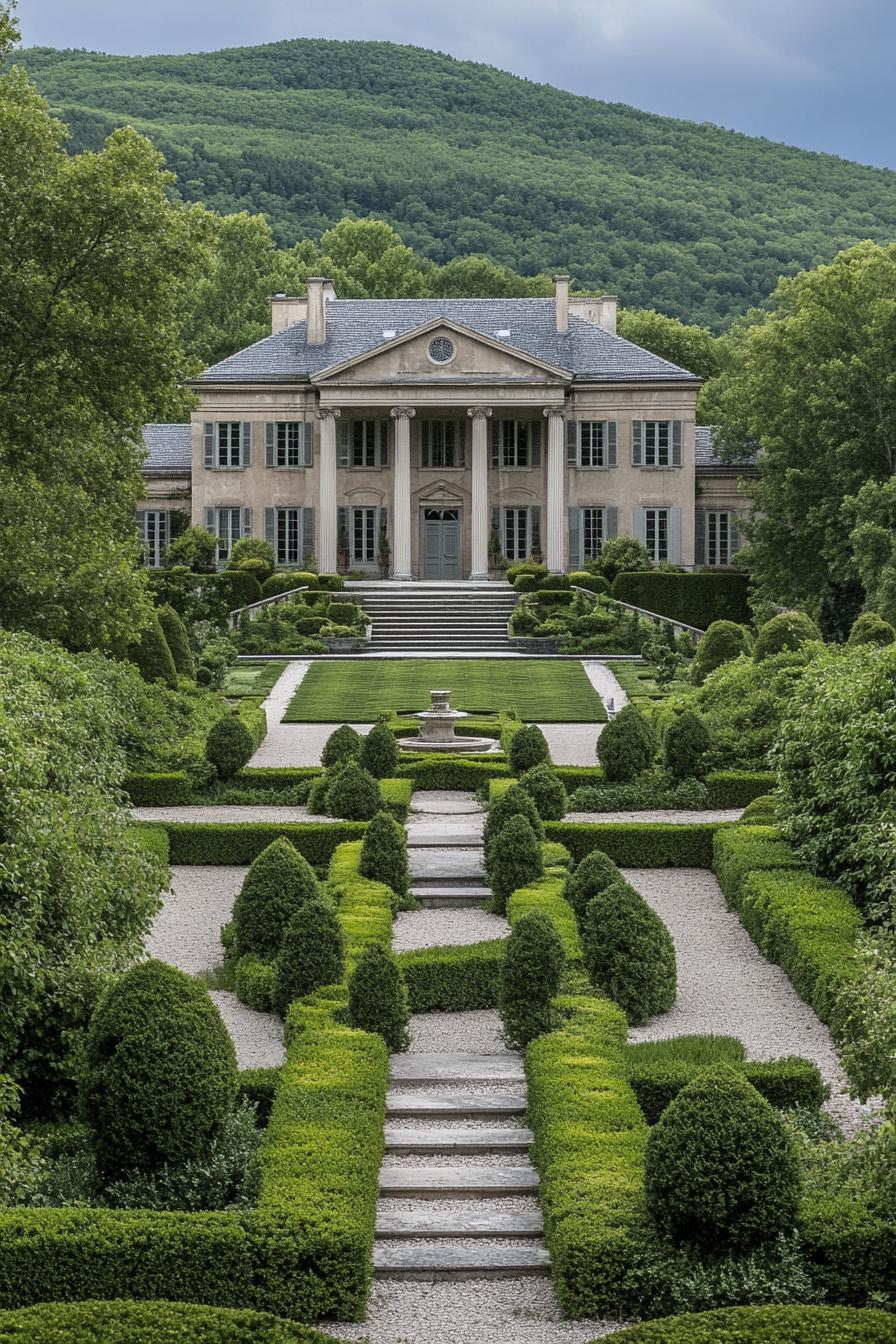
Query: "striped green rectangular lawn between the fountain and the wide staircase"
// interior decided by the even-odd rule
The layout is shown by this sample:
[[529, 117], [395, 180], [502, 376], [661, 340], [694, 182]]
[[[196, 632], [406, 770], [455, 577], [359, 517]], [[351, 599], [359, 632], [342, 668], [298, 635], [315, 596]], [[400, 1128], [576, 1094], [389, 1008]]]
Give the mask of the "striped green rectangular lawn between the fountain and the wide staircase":
[[541, 659], [371, 659], [313, 663], [286, 723], [371, 723], [426, 710], [431, 689], [455, 710], [505, 710], [536, 723], [603, 723], [606, 711], [580, 663]]

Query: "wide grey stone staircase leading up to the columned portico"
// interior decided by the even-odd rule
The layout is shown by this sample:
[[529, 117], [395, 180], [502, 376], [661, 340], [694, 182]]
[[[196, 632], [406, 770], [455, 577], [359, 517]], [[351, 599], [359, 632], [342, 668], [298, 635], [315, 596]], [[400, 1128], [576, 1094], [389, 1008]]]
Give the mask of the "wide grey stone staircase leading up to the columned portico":
[[371, 653], [508, 653], [508, 583], [348, 583], [373, 622]]

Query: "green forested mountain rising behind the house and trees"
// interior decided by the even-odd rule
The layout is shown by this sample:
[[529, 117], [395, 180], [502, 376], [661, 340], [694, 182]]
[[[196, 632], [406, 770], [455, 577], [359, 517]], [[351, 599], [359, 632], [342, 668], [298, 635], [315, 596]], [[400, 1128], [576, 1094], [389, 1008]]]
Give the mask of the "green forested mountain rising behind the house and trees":
[[263, 211], [281, 243], [375, 215], [437, 262], [524, 274], [723, 327], [778, 277], [896, 237], [896, 173], [656, 117], [384, 42], [17, 59], [75, 149], [122, 122], [180, 191]]

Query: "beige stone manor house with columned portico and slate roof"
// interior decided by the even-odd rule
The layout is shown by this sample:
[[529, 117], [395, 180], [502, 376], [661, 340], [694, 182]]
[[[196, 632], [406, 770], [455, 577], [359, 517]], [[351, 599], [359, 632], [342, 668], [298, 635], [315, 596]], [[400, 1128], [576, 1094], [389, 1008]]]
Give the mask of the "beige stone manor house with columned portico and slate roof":
[[138, 527], [160, 564], [188, 513], [277, 562], [485, 579], [607, 538], [727, 566], [746, 501], [695, 425], [700, 380], [617, 336], [615, 298], [275, 294], [271, 335], [207, 368], [189, 425], [148, 425]]

